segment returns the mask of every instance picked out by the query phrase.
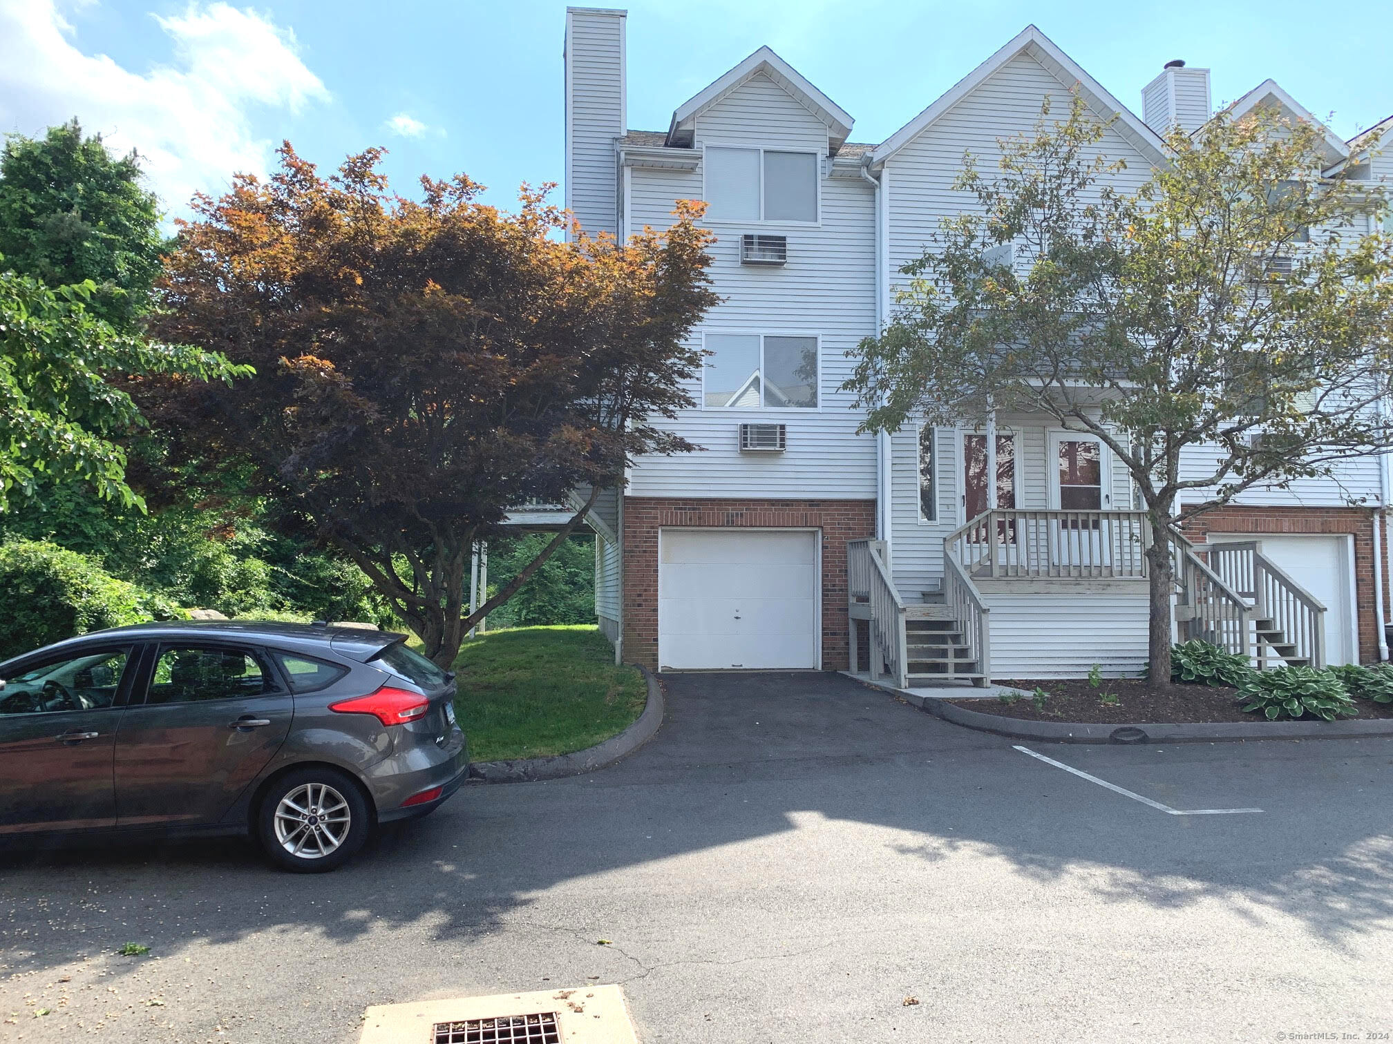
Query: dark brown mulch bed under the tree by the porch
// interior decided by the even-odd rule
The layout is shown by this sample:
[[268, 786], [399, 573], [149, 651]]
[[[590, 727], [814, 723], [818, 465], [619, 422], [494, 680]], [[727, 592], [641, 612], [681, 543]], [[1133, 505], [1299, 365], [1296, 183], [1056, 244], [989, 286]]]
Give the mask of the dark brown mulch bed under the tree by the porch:
[[[1169, 693], [1152, 695], [1146, 682], [1138, 678], [1105, 678], [1096, 688], [1084, 679], [1018, 678], [997, 681], [1007, 689], [1022, 693], [1015, 703], [1000, 699], [950, 700], [950, 703], [979, 714], [1000, 714], [1029, 721], [1077, 721], [1110, 724], [1160, 724], [1195, 721], [1261, 721], [1259, 714], [1245, 714], [1238, 702], [1238, 690], [1226, 686], [1174, 685]], [[1049, 693], [1043, 710], [1036, 710], [1031, 693], [1041, 688]], [[1116, 693], [1117, 703], [1103, 703], [1103, 693]], [[1393, 718], [1393, 703], [1355, 700], [1360, 718]], [[1309, 718], [1318, 721], [1319, 718]], [[1354, 721], [1355, 718], [1340, 718]]]

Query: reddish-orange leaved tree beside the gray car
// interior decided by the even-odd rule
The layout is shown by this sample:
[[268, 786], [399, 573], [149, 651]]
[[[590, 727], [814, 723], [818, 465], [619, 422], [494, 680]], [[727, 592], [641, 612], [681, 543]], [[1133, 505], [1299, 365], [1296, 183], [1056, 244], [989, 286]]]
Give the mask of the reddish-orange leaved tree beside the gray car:
[[[372, 580], [449, 664], [581, 525], [591, 501], [474, 614], [475, 540], [510, 507], [623, 482], [637, 454], [690, 443], [653, 420], [692, 405], [687, 335], [715, 303], [710, 235], [680, 203], [666, 232], [563, 242], [566, 212], [524, 188], [515, 214], [460, 175], [394, 195], [380, 150], [320, 177], [288, 145], [182, 224], [155, 329], [256, 367], [152, 395], [198, 426], [209, 466], [255, 464], [262, 489]], [[598, 496], [598, 494], [596, 494]]]

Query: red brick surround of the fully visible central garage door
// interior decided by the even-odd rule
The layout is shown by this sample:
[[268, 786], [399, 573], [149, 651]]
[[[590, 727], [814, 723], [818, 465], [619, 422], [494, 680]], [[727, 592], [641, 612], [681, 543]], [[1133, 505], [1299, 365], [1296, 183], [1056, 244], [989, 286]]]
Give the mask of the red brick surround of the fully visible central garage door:
[[657, 667], [657, 530], [663, 526], [822, 530], [822, 667], [847, 657], [847, 540], [875, 536], [873, 500], [624, 498], [624, 658]]

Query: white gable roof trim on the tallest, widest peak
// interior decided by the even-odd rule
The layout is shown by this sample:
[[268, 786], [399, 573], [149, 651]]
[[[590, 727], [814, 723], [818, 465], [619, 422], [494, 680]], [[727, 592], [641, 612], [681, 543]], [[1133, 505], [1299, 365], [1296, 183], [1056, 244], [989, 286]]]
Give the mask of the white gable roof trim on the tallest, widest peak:
[[1049, 36], [1034, 25], [1027, 25], [1025, 29], [996, 52], [996, 54], [963, 77], [963, 79], [939, 96], [933, 104], [880, 142], [871, 156], [871, 163], [880, 164], [894, 156], [894, 153], [900, 152], [900, 149], [928, 129], [940, 116], [981, 86], [988, 77], [1018, 54], [1028, 54], [1035, 58], [1035, 61], [1063, 84], [1078, 84], [1080, 93], [1089, 109], [1102, 116], [1117, 114], [1114, 128], [1133, 148], [1152, 163], [1162, 164], [1166, 161], [1165, 145], [1153, 129], [1146, 127], [1127, 106], [1113, 97], [1102, 84], [1088, 75]]

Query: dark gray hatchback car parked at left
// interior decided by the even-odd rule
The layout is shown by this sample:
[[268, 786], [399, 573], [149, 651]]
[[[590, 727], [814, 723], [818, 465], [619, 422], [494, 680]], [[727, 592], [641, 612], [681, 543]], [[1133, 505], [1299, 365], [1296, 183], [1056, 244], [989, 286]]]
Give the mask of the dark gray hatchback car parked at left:
[[333, 870], [468, 773], [454, 675], [404, 640], [143, 624], [7, 660], [0, 839], [251, 832], [287, 870]]

